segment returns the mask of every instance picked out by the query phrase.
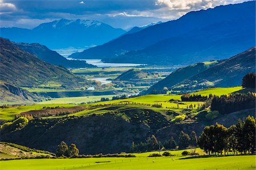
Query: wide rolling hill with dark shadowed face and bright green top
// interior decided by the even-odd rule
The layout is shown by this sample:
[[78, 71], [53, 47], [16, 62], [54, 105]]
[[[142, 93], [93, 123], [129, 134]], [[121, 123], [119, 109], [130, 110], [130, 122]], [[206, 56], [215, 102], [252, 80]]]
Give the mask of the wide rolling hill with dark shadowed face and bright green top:
[[[222, 95], [239, 90], [241, 87], [212, 88], [197, 93], [205, 96]], [[39, 110], [35, 113], [42, 118], [35, 117], [24, 128], [2, 134], [1, 140], [52, 152], [61, 141], [68, 144], [75, 142], [81, 154], [129, 152], [132, 142], [143, 142], [152, 134], [162, 142], [171, 136], [177, 140], [181, 130], [188, 134], [194, 130], [200, 134], [205, 126], [216, 121], [227, 126], [236, 123], [238, 118], [253, 115], [255, 112], [241, 111], [208, 119], [209, 111], [197, 110], [203, 102], [181, 102], [180, 97], [181, 95], [146, 95], [104, 101], [81, 105], [84, 107], [83, 111], [64, 114], [54, 114], [52, 107], [57, 105], [2, 108], [1, 117], [10, 118], [15, 114], [28, 114], [26, 111], [34, 113], [33, 110]], [[156, 104], [162, 107], [156, 107]], [[188, 109], [189, 105], [193, 105], [193, 109]], [[59, 104], [59, 107], [73, 105]], [[52, 111], [51, 115], [44, 114], [47, 109]], [[172, 122], [176, 116], [183, 114], [184, 120]]]

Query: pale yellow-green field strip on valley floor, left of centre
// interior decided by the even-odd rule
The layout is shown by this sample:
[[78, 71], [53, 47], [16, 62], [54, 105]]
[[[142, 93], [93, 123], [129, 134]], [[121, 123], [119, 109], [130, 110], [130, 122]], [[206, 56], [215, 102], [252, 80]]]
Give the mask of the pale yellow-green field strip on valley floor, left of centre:
[[103, 96], [82, 96], [82, 97], [64, 97], [64, 98], [56, 98], [53, 100], [42, 101], [39, 104], [80, 104], [82, 102], [89, 102], [89, 101], [100, 101], [101, 97], [107, 97], [110, 100], [114, 95], [103, 95]]

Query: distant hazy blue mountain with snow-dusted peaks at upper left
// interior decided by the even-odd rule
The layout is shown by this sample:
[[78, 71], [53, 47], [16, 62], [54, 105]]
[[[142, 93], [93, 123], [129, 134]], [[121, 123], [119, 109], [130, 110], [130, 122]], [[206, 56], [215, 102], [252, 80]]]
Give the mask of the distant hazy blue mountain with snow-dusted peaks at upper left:
[[50, 49], [101, 45], [125, 33], [97, 20], [60, 19], [34, 29], [0, 28], [0, 36], [16, 42], [40, 43]]

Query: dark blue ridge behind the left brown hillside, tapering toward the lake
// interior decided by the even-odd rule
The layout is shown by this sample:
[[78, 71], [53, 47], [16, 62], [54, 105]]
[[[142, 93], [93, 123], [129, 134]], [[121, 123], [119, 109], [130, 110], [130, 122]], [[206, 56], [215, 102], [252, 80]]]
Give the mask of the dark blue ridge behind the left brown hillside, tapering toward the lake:
[[96, 67], [94, 65], [90, 65], [86, 63], [86, 61], [79, 61], [79, 60], [68, 60], [67, 58], [61, 56], [59, 53], [50, 50], [47, 46], [33, 43], [14, 43], [19, 48], [23, 49], [24, 51], [35, 54], [40, 59], [45, 62], [51, 63], [53, 65], [60, 65], [66, 68], [86, 68], [86, 67]]

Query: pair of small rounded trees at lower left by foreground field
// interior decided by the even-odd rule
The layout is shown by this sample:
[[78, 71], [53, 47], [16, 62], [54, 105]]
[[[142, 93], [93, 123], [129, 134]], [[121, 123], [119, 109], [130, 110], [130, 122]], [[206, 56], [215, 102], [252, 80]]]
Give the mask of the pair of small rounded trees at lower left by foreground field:
[[79, 155], [79, 149], [74, 143], [68, 146], [65, 142], [61, 141], [56, 150], [57, 156], [67, 156], [69, 158], [74, 158]]

